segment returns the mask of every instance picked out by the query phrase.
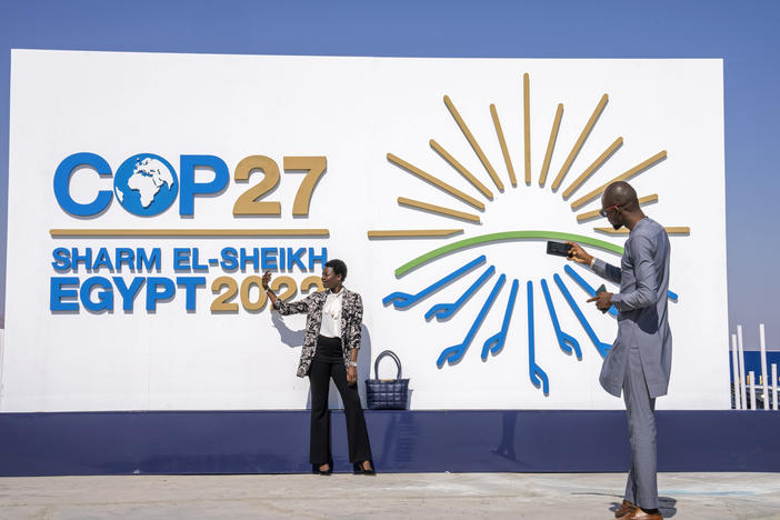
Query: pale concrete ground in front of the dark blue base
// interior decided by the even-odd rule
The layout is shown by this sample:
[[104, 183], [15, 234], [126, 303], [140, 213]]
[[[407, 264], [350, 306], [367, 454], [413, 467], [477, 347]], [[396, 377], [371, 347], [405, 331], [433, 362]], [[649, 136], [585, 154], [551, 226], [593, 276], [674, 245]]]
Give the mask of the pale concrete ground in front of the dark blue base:
[[[624, 474], [0, 479], [0, 519], [612, 519]], [[780, 473], [661, 473], [674, 519], [780, 519]]]

